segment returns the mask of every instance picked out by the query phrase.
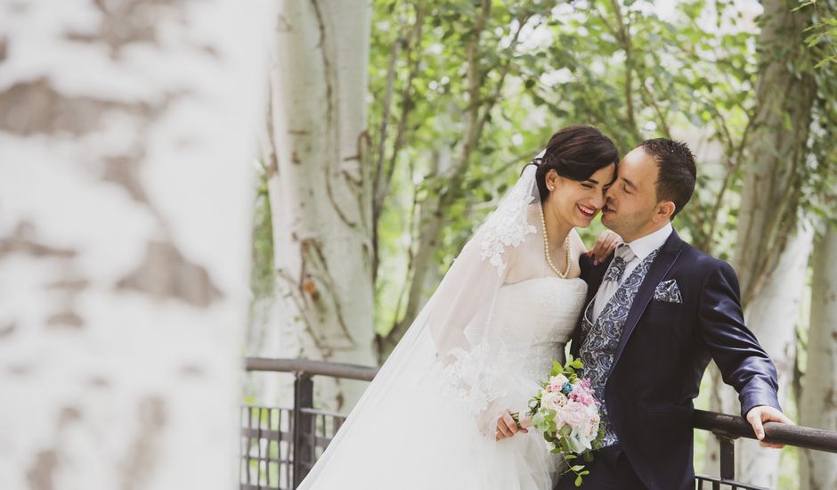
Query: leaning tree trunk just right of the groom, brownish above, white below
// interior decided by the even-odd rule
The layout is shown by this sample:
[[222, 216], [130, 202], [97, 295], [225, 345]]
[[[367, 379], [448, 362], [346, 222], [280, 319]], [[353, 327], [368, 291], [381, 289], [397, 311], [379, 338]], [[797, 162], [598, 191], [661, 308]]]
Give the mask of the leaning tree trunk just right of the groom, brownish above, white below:
[[[800, 278], [800, 271], [780, 263], [792, 264], [796, 260], [804, 271], [809, 257], [810, 243], [806, 245], [805, 241], [810, 241], [810, 231], [799, 227], [796, 216], [817, 85], [809, 71], [793, 65], [807, 55], [802, 39], [810, 24], [811, 9], [792, 12], [796, 5], [784, 0], [770, 0], [763, 5], [759, 39], [763, 68], [752, 116], [752, 135], [744, 146], [749, 166], [744, 167], [737, 229], [739, 246], [733, 265], [747, 325], [779, 370], [782, 402], [787, 383], [792, 380], [792, 346], [804, 279]], [[804, 259], [794, 257], [803, 253]], [[711, 409], [739, 412], [735, 391], [724, 385], [714, 366], [711, 376]], [[739, 445], [742, 451], [736, 454], [736, 476], [756, 485], [764, 481], [775, 485], [778, 468], [776, 464], [771, 466], [770, 461], [775, 462], [776, 454], [748, 443]], [[707, 470], [715, 470], [718, 447], [712, 437], [706, 457]]]

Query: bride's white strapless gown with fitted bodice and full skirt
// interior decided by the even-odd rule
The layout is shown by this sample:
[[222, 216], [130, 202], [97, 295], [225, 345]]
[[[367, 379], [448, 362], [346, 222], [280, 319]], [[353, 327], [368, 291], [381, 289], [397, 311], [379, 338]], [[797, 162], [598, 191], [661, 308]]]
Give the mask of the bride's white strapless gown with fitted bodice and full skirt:
[[[537, 243], [540, 234], [531, 238]], [[492, 354], [481, 363], [446, 368], [436, 363], [438, 369], [407, 369], [391, 377], [386, 387], [378, 387], [386, 390], [386, 396], [349, 416], [341, 429], [349, 434], [338, 433], [334, 442], [339, 444], [329, 446], [300, 488], [551, 490], [559, 458], [549, 453], [540, 434], [532, 430], [495, 441], [493, 424], [498, 409], [527, 412], [528, 401], [539, 389], [538, 381], [548, 376], [552, 360], [564, 362], [564, 347], [586, 291], [581, 279], [555, 275], [502, 284], [486, 330], [492, 332], [491, 337], [482, 339], [484, 346], [493, 346]], [[401, 348], [410, 348], [418, 358], [435, 356], [429, 331], [407, 341], [410, 345]], [[451, 370], [467, 369], [475, 372], [456, 374], [468, 380], [491, 371], [488, 377], [495, 385], [502, 380], [492, 410], [485, 410], [473, 396], [458, 396], [451, 388]], [[478, 413], [487, 420], [478, 423]], [[355, 416], [374, 421], [351, 428]], [[363, 433], [358, 434], [361, 429]]]

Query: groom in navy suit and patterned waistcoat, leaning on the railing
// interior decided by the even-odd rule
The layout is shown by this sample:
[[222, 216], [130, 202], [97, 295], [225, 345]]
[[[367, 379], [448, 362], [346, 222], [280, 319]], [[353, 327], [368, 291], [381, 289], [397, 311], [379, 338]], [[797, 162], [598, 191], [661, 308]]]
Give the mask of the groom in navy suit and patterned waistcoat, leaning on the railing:
[[[757, 437], [764, 421], [792, 423], [776, 397], [776, 368], [744, 325], [732, 267], [671, 227], [694, 190], [685, 143], [643, 142], [620, 163], [602, 210], [602, 223], [625, 243], [601, 262], [581, 257], [589, 290], [571, 352], [605, 423], [605, 447], [582, 489], [695, 487], [692, 400], [710, 359]], [[557, 490], [573, 480], [562, 478]]]

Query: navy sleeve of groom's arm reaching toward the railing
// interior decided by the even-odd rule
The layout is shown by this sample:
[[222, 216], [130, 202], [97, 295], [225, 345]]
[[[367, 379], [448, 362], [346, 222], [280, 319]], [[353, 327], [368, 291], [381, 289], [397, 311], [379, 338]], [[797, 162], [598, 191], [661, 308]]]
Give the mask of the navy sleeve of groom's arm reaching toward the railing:
[[738, 392], [742, 417], [760, 405], [781, 412], [776, 396], [776, 366], [744, 325], [735, 271], [720, 260], [716, 260], [716, 265], [703, 284], [698, 306], [703, 341], [724, 382]]

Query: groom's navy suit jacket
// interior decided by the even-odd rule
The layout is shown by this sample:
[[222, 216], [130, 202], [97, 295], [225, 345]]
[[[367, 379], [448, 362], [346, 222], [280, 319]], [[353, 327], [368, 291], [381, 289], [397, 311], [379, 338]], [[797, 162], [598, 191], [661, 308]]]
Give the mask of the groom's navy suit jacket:
[[[581, 257], [587, 306], [611, 257]], [[654, 299], [660, 282], [677, 282], [682, 302]], [[579, 357], [581, 328], [571, 353]], [[738, 279], [726, 262], [672, 232], [642, 282], [605, 383], [605, 404], [631, 466], [646, 486], [695, 487], [692, 400], [710, 359], [739, 394], [742, 416], [757, 405], [780, 409], [776, 367], [744, 326]]]

